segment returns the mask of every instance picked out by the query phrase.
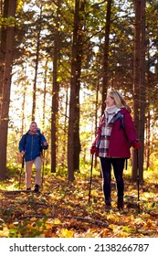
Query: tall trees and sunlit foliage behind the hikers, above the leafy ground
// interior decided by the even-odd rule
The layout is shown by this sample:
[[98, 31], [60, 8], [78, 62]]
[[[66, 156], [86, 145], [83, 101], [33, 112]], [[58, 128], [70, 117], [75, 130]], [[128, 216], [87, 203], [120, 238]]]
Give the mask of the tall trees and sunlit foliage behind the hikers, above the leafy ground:
[[80, 162], [90, 162], [110, 88], [132, 107], [142, 173], [155, 168], [157, 1], [0, 3], [1, 177], [16, 165], [19, 139], [35, 120], [50, 145], [51, 172], [66, 168], [73, 180]]

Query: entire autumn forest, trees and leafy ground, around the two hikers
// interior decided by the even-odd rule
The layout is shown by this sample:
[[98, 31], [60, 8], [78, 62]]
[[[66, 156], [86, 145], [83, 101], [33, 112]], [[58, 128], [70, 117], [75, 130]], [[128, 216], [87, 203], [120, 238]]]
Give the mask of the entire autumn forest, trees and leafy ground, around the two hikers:
[[[157, 0], [0, 6], [0, 237], [157, 237]], [[125, 208], [114, 199], [107, 213], [90, 147], [110, 89], [132, 108], [142, 146], [124, 169]], [[49, 145], [37, 194], [17, 161], [32, 121]]]

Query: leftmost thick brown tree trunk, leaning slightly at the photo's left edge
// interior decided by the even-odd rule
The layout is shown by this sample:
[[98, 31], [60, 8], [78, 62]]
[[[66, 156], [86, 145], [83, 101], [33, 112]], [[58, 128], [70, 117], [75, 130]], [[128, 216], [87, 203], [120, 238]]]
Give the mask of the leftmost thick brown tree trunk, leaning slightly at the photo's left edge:
[[[8, 6], [7, 16], [16, 16], [16, 0], [5, 0]], [[5, 44], [5, 69], [2, 88], [2, 108], [0, 123], [0, 177], [5, 178], [6, 172], [6, 144], [7, 144], [7, 128], [9, 122], [9, 103], [12, 78], [12, 65], [15, 46], [15, 25], [6, 27], [6, 44]]]

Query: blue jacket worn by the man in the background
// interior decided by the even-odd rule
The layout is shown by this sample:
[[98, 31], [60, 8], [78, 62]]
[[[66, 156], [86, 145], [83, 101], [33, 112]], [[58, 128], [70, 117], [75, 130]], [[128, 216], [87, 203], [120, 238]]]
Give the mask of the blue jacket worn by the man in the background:
[[48, 145], [45, 146], [44, 142], [46, 142], [46, 138], [42, 133], [37, 131], [36, 134], [30, 133], [28, 131], [24, 134], [19, 142], [18, 149], [19, 151], [25, 151], [25, 160], [32, 161], [37, 158], [37, 156], [41, 155], [42, 149], [47, 149]]

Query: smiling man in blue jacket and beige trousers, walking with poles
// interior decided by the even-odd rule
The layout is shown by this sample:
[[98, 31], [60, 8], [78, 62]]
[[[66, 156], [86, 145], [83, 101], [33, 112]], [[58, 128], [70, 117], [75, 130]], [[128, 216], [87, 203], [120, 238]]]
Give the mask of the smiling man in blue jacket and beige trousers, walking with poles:
[[19, 142], [18, 149], [21, 155], [24, 156], [26, 162], [26, 190], [31, 190], [31, 174], [33, 164], [36, 166], [35, 176], [35, 192], [39, 191], [41, 184], [41, 165], [42, 165], [42, 149], [48, 147], [45, 136], [40, 133], [37, 128], [37, 123], [32, 122], [29, 130], [24, 134]]

